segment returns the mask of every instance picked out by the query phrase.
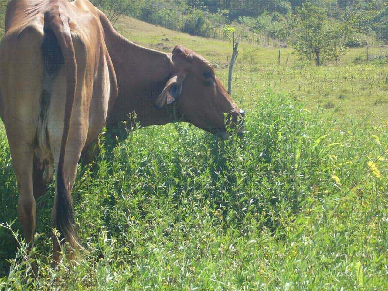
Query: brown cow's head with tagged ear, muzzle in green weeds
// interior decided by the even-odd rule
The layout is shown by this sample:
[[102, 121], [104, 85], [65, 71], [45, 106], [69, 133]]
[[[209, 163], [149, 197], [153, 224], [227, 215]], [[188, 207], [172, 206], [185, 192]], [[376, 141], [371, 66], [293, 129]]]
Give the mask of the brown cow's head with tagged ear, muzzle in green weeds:
[[163, 108], [176, 102], [183, 120], [209, 131], [222, 139], [228, 138], [226, 122], [241, 135], [244, 112], [226, 92], [215, 76], [210, 62], [183, 46], [172, 52], [173, 73], [155, 105]]

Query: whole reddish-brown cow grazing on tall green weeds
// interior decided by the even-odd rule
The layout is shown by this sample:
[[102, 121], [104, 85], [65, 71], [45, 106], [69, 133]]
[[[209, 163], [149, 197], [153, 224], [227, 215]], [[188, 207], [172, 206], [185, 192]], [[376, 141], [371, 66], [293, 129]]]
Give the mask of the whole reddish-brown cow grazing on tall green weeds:
[[[243, 130], [243, 111], [206, 59], [182, 46], [162, 53], [129, 42], [87, 0], [10, 1], [0, 89], [27, 242], [35, 198], [55, 169], [53, 226], [77, 245], [70, 192], [80, 155], [103, 126], [114, 132], [135, 112], [143, 127], [180, 120], [226, 139], [226, 113], [237, 133]], [[54, 239], [54, 262], [58, 256]]]

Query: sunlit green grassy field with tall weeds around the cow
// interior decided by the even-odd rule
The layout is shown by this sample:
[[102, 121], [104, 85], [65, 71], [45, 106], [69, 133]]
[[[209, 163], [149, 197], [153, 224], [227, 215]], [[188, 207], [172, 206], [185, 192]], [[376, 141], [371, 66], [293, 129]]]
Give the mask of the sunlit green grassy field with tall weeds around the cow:
[[[117, 29], [154, 49], [186, 45], [226, 80], [229, 43], [129, 18]], [[37, 282], [25, 278], [18, 220], [6, 226], [17, 186], [0, 129], [0, 290], [388, 290], [387, 65], [354, 64], [363, 49], [352, 49], [317, 68], [288, 48], [278, 65], [278, 50], [240, 48], [242, 139], [149, 127], [114, 150], [104, 143], [96, 168], [79, 167], [84, 249], [58, 271], [47, 257], [51, 185], [39, 201]]]

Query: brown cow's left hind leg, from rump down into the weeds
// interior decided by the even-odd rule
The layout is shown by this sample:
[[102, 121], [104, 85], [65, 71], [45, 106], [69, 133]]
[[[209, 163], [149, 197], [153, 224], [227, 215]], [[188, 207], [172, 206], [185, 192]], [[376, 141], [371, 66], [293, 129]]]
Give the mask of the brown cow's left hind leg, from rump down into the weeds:
[[[18, 213], [24, 238], [32, 246], [36, 205], [32, 167], [36, 146], [39, 98], [42, 92], [42, 33], [27, 27], [1, 44], [3, 121], [18, 184]], [[6, 56], [6, 58], [4, 57]], [[36, 266], [32, 266], [35, 275]]]

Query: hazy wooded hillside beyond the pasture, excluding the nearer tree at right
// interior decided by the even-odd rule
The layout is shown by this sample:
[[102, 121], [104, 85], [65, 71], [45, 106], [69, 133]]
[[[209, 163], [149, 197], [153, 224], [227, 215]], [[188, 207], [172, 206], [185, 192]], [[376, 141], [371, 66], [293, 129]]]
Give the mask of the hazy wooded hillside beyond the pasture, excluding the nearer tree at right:
[[[388, 42], [388, 3], [386, 0], [92, 0], [113, 23], [118, 14], [194, 35], [211, 37], [214, 28], [237, 22], [242, 28], [269, 37], [285, 38], [284, 30], [300, 14], [303, 5], [324, 12], [326, 22], [350, 21], [349, 46], [363, 44], [369, 34]], [[109, 17], [108, 16], [108, 17]], [[356, 26], [359, 32], [356, 33]], [[286, 27], [286, 28], [285, 28]], [[350, 28], [351, 26], [347, 26]], [[366, 29], [365, 29], [366, 28]]]

